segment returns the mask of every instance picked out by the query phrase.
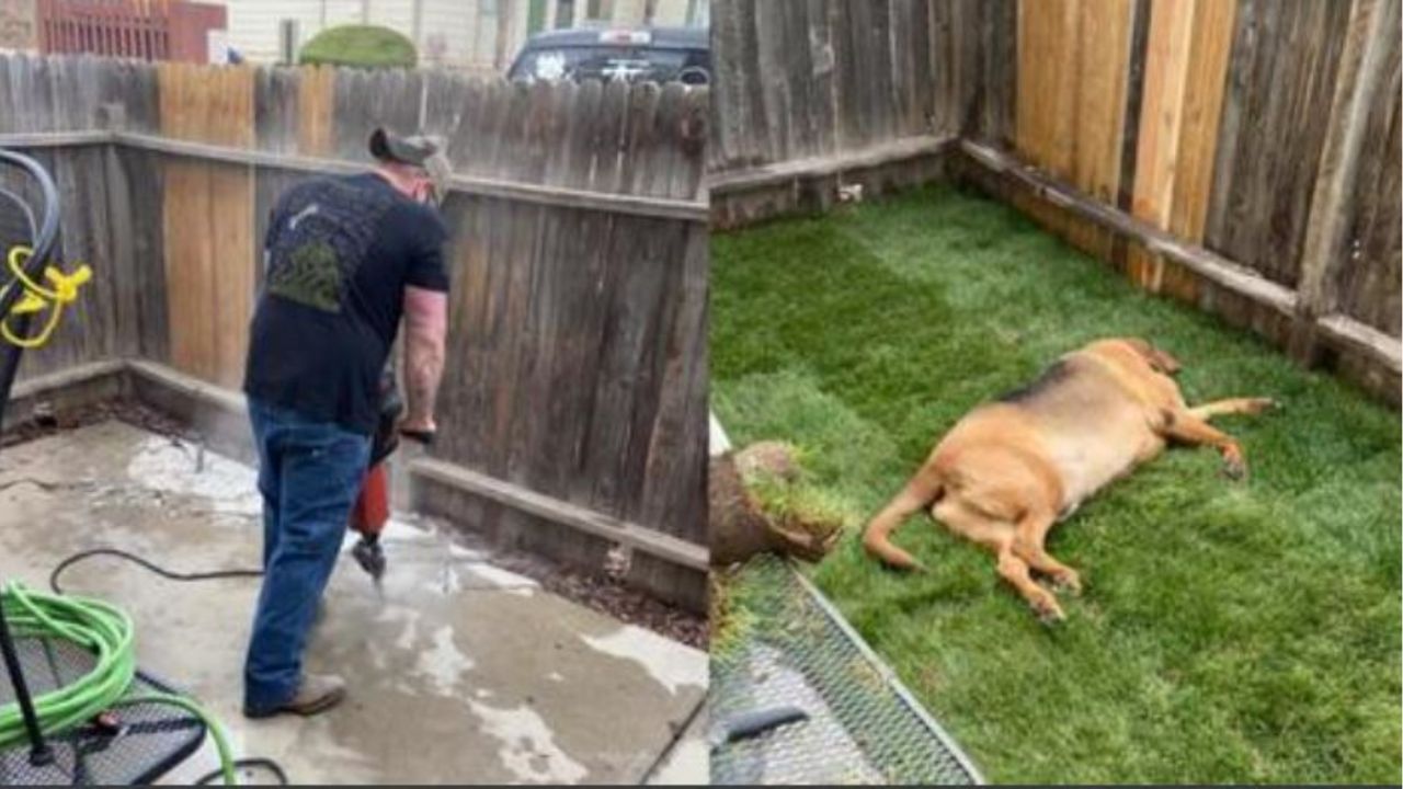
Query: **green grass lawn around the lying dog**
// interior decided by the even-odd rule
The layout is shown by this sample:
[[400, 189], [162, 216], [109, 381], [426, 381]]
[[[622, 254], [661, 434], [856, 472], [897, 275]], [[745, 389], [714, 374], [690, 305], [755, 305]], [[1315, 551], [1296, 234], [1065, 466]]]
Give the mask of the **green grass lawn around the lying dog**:
[[[1396, 413], [947, 187], [718, 234], [711, 288], [713, 409], [807, 453], [849, 524], [814, 578], [991, 781], [1400, 781]], [[1190, 403], [1284, 406], [1216, 420], [1246, 483], [1176, 448], [1085, 504], [1049, 538], [1087, 584], [1054, 629], [927, 517], [897, 541], [930, 574], [863, 556], [960, 416], [1122, 334]]]

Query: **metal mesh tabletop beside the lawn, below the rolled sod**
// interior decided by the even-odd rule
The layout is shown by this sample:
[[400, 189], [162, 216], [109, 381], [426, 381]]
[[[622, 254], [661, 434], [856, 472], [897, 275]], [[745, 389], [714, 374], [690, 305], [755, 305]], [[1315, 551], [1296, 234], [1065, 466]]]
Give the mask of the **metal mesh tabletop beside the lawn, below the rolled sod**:
[[734, 642], [711, 657], [711, 722], [776, 706], [808, 720], [718, 747], [711, 782], [982, 783], [954, 740], [808, 580], [763, 556], [728, 584]]

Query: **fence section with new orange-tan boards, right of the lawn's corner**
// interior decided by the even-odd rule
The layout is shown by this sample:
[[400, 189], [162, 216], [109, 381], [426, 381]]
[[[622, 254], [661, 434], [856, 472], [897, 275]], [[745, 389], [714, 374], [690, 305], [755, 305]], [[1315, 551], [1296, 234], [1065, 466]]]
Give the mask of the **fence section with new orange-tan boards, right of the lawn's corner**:
[[1037, 171], [979, 180], [1397, 403], [1399, 0], [1023, 0], [1002, 35], [1014, 124], [988, 142]]

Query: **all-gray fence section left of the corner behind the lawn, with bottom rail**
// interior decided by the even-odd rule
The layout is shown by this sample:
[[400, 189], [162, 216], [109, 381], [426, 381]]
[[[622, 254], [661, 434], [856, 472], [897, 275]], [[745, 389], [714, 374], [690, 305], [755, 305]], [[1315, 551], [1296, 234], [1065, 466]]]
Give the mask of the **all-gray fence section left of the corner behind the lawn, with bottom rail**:
[[716, 0], [709, 167], [721, 227], [939, 177], [960, 133], [1003, 129], [1012, 0]]

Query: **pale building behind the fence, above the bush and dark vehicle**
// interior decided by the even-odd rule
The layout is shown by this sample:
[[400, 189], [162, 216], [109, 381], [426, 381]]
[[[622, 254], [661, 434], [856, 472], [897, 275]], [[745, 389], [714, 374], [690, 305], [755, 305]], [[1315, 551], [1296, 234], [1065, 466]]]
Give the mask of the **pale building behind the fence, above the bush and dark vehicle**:
[[[320, 31], [393, 28], [419, 63], [499, 73], [535, 32], [581, 25], [706, 27], [709, 0], [212, 0], [229, 10], [227, 44], [248, 62], [279, 62]], [[293, 41], [286, 41], [290, 38]]]

